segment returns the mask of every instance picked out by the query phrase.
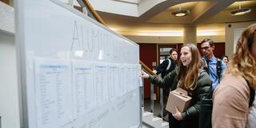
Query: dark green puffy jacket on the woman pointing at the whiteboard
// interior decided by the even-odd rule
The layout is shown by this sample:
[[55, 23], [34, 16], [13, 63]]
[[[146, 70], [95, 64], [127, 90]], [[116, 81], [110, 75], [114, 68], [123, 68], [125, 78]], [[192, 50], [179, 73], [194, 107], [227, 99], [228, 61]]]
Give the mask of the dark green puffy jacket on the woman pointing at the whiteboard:
[[[148, 80], [159, 87], [169, 87], [170, 90], [175, 90], [178, 85], [177, 74], [178, 70], [176, 69], [169, 74], [166, 74], [164, 78], [150, 75]], [[189, 92], [190, 96], [192, 97], [192, 101], [190, 103], [190, 107], [188, 107], [188, 109], [182, 113], [183, 120], [195, 117], [198, 118], [200, 100], [202, 95], [210, 94], [211, 84], [212, 82], [209, 75], [206, 73], [206, 70], [199, 70], [198, 86]]]

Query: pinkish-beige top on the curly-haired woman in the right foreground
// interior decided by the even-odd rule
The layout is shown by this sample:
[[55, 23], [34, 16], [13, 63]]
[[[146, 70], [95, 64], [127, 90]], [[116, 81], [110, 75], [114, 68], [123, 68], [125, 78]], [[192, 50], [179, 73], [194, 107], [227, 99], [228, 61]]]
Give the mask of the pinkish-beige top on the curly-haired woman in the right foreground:
[[221, 83], [214, 90], [212, 115], [214, 127], [220, 127], [219, 122], [226, 124], [226, 127], [245, 127], [249, 94], [249, 86], [242, 76], [224, 74]]

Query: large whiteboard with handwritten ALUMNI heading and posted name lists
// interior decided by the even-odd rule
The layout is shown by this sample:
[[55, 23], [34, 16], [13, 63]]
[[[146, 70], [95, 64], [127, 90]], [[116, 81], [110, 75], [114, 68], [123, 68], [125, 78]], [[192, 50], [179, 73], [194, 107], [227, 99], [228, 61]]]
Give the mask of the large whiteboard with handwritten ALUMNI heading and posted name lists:
[[57, 0], [15, 5], [22, 127], [141, 125], [136, 43]]

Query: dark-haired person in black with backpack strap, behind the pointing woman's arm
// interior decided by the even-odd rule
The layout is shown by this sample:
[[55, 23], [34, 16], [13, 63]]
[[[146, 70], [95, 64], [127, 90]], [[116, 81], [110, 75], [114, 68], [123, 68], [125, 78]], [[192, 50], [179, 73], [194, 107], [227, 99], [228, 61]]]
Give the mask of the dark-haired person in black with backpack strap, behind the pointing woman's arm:
[[[174, 48], [171, 48], [169, 54], [170, 54], [170, 58], [166, 59], [160, 65], [155, 67], [155, 69], [153, 70], [154, 74], [161, 74], [161, 77], [164, 78], [166, 76], [166, 74], [169, 74], [172, 70], [175, 69], [175, 67], [177, 65], [177, 58], [178, 58], [177, 50]], [[163, 88], [163, 106], [164, 106], [164, 108], [166, 108], [166, 102], [167, 102], [169, 93], [170, 93], [169, 88]], [[168, 119], [166, 119], [166, 118], [168, 118], [167, 114], [168, 114], [168, 112], [164, 109], [163, 117], [164, 117], [164, 120], [166, 120], [166, 121], [168, 120]], [[158, 114], [158, 117], [161, 118], [161, 114]]]

